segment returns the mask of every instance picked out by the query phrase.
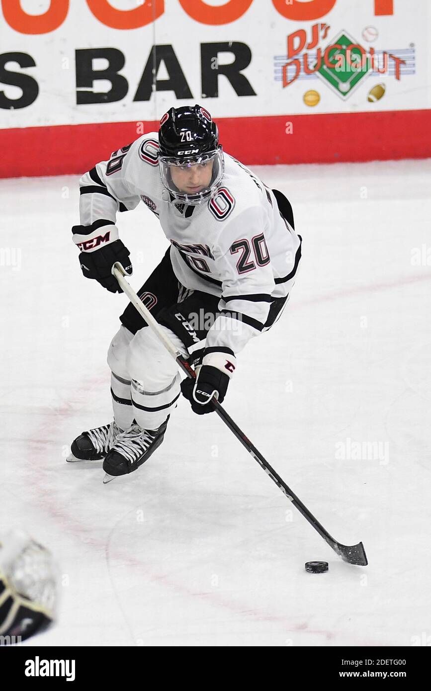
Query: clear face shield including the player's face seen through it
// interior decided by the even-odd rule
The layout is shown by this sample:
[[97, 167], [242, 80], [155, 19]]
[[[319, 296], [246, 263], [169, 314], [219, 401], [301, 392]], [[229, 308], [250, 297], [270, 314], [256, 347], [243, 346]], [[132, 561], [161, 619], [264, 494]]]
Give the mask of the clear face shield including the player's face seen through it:
[[185, 204], [202, 204], [220, 187], [224, 173], [221, 146], [199, 156], [173, 158], [159, 156], [164, 187]]

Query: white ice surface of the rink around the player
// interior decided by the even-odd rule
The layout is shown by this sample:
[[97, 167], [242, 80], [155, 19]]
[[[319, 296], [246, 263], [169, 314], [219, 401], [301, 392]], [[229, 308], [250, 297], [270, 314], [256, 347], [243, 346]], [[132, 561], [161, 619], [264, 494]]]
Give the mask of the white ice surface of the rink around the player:
[[[58, 622], [26, 645], [430, 634], [431, 269], [411, 258], [431, 255], [431, 161], [256, 171], [291, 200], [303, 261], [281, 321], [238, 357], [226, 408], [370, 564], [342, 562], [184, 399], [133, 475], [104, 486], [100, 464], [66, 464], [73, 438], [111, 418], [106, 349], [126, 298], [81, 274], [77, 177], [1, 180], [1, 529], [27, 529], [61, 574]], [[119, 226], [137, 289], [167, 243], [144, 205]], [[380, 442], [380, 459], [341, 460], [347, 439]], [[329, 573], [307, 574], [318, 559]]]

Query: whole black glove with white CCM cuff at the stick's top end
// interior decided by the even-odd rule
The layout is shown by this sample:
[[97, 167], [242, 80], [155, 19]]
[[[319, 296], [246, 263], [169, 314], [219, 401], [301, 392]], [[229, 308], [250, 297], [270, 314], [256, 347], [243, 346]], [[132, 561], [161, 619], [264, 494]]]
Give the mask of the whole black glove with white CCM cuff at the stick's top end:
[[[91, 225], [74, 225], [73, 242], [81, 250], [79, 264], [86, 278], [95, 278], [111, 293], [122, 293], [111, 270], [116, 261], [131, 276], [133, 269], [130, 252], [118, 239], [118, 229], [107, 220], [97, 220]], [[95, 249], [97, 247], [97, 249]]]

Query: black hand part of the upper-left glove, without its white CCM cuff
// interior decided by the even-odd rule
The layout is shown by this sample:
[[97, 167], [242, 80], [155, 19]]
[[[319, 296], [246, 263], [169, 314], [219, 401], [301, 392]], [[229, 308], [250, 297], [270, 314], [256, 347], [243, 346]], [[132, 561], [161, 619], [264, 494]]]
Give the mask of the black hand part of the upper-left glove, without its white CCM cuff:
[[116, 261], [124, 267], [126, 274], [131, 276], [133, 268], [129, 259], [130, 252], [121, 240], [115, 243], [96, 249], [95, 252], [81, 252], [79, 262], [81, 263], [82, 273], [86, 278], [95, 278], [111, 293], [122, 293], [117, 279], [111, 274], [112, 267]]

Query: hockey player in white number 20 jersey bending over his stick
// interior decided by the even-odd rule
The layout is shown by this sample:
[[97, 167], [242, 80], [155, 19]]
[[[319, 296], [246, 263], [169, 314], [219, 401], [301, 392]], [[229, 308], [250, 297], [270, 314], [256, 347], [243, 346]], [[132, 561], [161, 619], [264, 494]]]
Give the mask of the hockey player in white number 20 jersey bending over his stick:
[[218, 128], [199, 105], [171, 108], [158, 136], [114, 151], [79, 182], [79, 263], [111, 292], [122, 292], [111, 274], [115, 262], [132, 273], [117, 211], [142, 200], [160, 220], [171, 247], [138, 295], [197, 374], [180, 384], [175, 361], [135, 307], [126, 307], [108, 350], [113, 422], [82, 433], [69, 457], [103, 458], [108, 475], [124, 475], [162, 443], [180, 388], [199, 415], [211, 413], [213, 397], [223, 401], [236, 355], [285, 306], [301, 240], [285, 196], [223, 153]]

